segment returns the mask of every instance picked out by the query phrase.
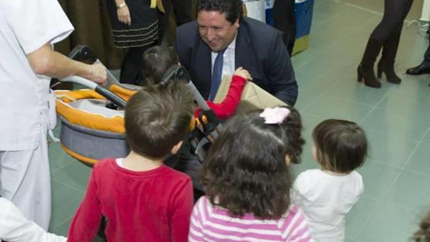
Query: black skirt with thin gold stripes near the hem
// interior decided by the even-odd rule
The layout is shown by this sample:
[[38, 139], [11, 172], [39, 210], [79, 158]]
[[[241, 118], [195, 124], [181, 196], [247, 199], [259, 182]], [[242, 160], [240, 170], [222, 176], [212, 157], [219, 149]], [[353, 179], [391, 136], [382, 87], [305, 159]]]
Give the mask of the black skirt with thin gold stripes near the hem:
[[158, 10], [151, 9], [151, 0], [126, 0], [131, 25], [118, 21], [114, 0], [108, 0], [108, 11], [112, 22], [115, 47], [139, 47], [154, 43], [158, 39]]

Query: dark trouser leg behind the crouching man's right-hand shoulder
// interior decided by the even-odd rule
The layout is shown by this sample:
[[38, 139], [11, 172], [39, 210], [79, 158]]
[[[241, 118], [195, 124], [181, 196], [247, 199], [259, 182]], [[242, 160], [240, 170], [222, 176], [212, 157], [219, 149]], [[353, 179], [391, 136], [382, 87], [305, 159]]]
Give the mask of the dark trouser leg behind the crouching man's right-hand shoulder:
[[288, 54], [293, 52], [296, 40], [295, 0], [275, 0], [273, 5], [274, 27], [282, 32], [282, 39]]

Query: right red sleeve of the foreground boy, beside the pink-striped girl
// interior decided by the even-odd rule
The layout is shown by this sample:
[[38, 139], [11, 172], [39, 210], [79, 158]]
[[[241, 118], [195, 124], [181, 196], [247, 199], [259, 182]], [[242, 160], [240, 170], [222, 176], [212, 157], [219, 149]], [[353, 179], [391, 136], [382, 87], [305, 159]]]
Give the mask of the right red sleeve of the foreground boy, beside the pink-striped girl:
[[172, 242], [188, 242], [191, 213], [193, 211], [193, 184], [188, 177], [186, 182], [172, 194], [173, 204], [170, 217]]

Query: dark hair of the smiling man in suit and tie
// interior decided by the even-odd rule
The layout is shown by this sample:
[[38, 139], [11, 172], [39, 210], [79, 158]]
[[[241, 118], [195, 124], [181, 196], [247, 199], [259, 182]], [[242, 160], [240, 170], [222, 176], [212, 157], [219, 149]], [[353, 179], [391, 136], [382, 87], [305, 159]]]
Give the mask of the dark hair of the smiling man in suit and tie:
[[198, 0], [197, 13], [200, 11], [218, 11], [225, 13], [226, 19], [232, 24], [242, 18], [242, 0]]

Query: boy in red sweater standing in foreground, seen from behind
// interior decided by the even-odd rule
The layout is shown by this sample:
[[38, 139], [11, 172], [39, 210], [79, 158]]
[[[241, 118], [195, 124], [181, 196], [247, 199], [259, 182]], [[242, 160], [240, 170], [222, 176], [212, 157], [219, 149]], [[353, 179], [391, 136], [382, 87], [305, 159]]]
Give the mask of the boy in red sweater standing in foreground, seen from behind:
[[102, 216], [108, 242], [186, 242], [193, 208], [189, 176], [163, 164], [178, 152], [193, 116], [182, 82], [144, 87], [125, 110], [130, 154], [94, 166], [68, 241], [90, 242]]

